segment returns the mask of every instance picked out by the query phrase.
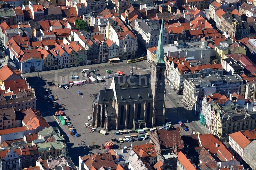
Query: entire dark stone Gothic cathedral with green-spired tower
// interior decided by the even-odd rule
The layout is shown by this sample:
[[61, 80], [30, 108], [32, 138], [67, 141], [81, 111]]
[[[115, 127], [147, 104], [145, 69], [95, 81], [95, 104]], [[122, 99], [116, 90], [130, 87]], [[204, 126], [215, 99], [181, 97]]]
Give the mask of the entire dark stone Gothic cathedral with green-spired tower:
[[92, 125], [104, 130], [138, 129], [164, 125], [166, 65], [163, 21], [151, 74], [114, 77], [109, 89], [93, 101]]

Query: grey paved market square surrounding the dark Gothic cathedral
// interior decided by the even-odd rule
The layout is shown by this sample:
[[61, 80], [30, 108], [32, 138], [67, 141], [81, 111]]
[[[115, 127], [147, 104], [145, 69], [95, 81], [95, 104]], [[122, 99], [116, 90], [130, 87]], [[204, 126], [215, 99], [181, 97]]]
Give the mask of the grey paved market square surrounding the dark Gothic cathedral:
[[[84, 80], [88, 79], [85, 77], [85, 74], [81, 73], [82, 68], [90, 68], [95, 69], [98, 68], [99, 71], [98, 74], [104, 78], [105, 76], [105, 66], [101, 64], [99, 65], [93, 65], [92, 66], [83, 66], [77, 69], [73, 69], [72, 74], [75, 74], [76, 76], [79, 75], [79, 79], [74, 79], [72, 81], [76, 80]], [[129, 75], [131, 70], [132, 64], [127, 64], [125, 62], [118, 63], [117, 65], [107, 65], [107, 69], [110, 69], [112, 71], [111, 74], [116, 73], [117, 71], [123, 71], [124, 74]], [[134, 74], [149, 74], [151, 68], [149, 68], [147, 64], [147, 60], [144, 60], [142, 62], [137, 63], [137, 69], [136, 69], [136, 63], [133, 63], [133, 71]], [[37, 96], [37, 109], [42, 113], [44, 118], [47, 120], [50, 126], [57, 126], [61, 130], [61, 134], [64, 135], [66, 142], [68, 143], [69, 152], [71, 155], [71, 158], [75, 164], [78, 165], [78, 156], [80, 155], [86, 155], [88, 153], [97, 153], [97, 152], [103, 152], [104, 149], [97, 148], [97, 149], [86, 149], [84, 145], [93, 145], [92, 142], [95, 142], [95, 145], [101, 146], [106, 141], [110, 141], [111, 138], [115, 137], [116, 139], [124, 138], [124, 135], [115, 135], [115, 131], [109, 131], [108, 135], [102, 135], [97, 132], [92, 132], [88, 128], [86, 128], [84, 125], [85, 123], [90, 124], [90, 121], [88, 120], [88, 116], [91, 115], [92, 110], [92, 102], [94, 100], [94, 97], [91, 97], [91, 95], [96, 94], [99, 92], [99, 90], [104, 89], [104, 86], [106, 84], [107, 88], [110, 87], [111, 81], [113, 78], [106, 79], [106, 82], [101, 83], [94, 83], [94, 84], [86, 84], [81, 86], [73, 86], [69, 89], [64, 90], [63, 88], [58, 88], [57, 86], [49, 86], [48, 82], [57, 82], [59, 84], [68, 83], [68, 81], [71, 81], [70, 79], [70, 72], [71, 70], [57, 70], [56, 73], [51, 72], [42, 72], [40, 75], [42, 75], [42, 78], [39, 76], [38, 80], [38, 74], [30, 74], [27, 75], [27, 80], [29, 81], [29, 84], [35, 88], [36, 96]], [[61, 108], [62, 111], [65, 113], [65, 115], [70, 119], [70, 122], [72, 122], [76, 132], [78, 133], [78, 137], [74, 137], [74, 135], [69, 134], [69, 128], [68, 126], [64, 126], [60, 124], [58, 121], [58, 118], [54, 116], [54, 112], [59, 109], [56, 109], [53, 107], [52, 103], [50, 103], [48, 100], [44, 100], [43, 96], [45, 94], [45, 90], [48, 89], [51, 91], [51, 94], [57, 95], [58, 99], [56, 100], [59, 104], [65, 104], [65, 108]], [[76, 92], [80, 91], [82, 94], [77, 95]], [[185, 123], [185, 125], [188, 128], [188, 132], [185, 132], [183, 129], [181, 129], [181, 135], [189, 135], [192, 133], [192, 126], [194, 127], [194, 132], [199, 131], [200, 133], [204, 133], [202, 130], [203, 127], [200, 127], [199, 121], [197, 123], [193, 123], [192, 120], [195, 120], [195, 115], [191, 112], [191, 110], [188, 110], [188, 108], [185, 108], [181, 104], [179, 105], [179, 108], [177, 108], [177, 102], [182, 98], [182, 96], [178, 96], [175, 92], [170, 90], [169, 86], [166, 87], [166, 117], [171, 119], [171, 121], [175, 124], [174, 127], [178, 127], [178, 120], [181, 120], [184, 123], [184, 120], [188, 119], [190, 123]], [[178, 117], [177, 116], [177, 109], [178, 109]], [[202, 126], [202, 125], [201, 125]], [[99, 129], [99, 128], [98, 128]], [[133, 133], [137, 134], [138, 133]], [[146, 142], [149, 142], [149, 140], [143, 140], [143, 141], [135, 141], [135, 142], [126, 142], [120, 143], [114, 142], [115, 146], [114, 149], [123, 148], [124, 146], [129, 147], [131, 145], [138, 145], [138, 144], [145, 144]]]

